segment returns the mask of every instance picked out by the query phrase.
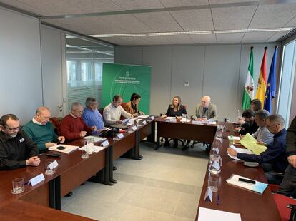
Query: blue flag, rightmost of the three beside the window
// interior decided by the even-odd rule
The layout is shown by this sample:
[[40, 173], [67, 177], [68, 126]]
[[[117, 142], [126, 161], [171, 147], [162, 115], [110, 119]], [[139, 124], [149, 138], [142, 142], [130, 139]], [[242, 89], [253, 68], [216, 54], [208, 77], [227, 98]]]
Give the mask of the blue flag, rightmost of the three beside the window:
[[275, 98], [275, 66], [277, 65], [277, 46], [275, 46], [275, 53], [273, 53], [272, 64], [270, 66], [270, 74], [268, 76], [264, 108], [269, 113], [272, 113], [272, 99]]

